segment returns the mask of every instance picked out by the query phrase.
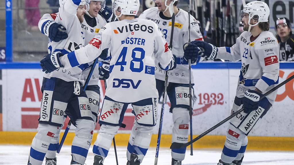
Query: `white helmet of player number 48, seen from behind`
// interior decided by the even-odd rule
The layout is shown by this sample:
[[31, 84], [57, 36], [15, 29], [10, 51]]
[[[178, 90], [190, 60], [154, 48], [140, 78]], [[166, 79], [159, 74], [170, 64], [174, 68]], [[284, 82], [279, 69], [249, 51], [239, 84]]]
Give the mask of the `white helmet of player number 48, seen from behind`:
[[[121, 14], [119, 16], [116, 15], [115, 11], [120, 7]], [[139, 0], [115, 0], [113, 2], [112, 10], [116, 17], [121, 17], [121, 15], [137, 15], [140, 8]]]

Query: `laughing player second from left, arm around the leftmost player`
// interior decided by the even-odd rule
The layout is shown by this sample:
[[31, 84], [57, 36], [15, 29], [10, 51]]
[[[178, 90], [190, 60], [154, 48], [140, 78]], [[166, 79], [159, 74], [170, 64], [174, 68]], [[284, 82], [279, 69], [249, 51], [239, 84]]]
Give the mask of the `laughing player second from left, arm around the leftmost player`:
[[[100, 14], [98, 14], [98, 11], [100, 11], [101, 6], [105, 7], [103, 6], [103, 4], [105, 5], [105, 0], [86, 1], [87, 11], [83, 15], [84, 17], [80, 16], [83, 20], [81, 23], [81, 27], [82, 27], [82, 32], [84, 33], [85, 43], [88, 43], [93, 37], [95, 37], [95, 35], [98, 34], [100, 28], [107, 23], [106, 20], [103, 17], [101, 17]], [[61, 41], [68, 37], [67, 33], [65, 32], [66, 29], [61, 24], [55, 22], [56, 15], [58, 14], [59, 13], [45, 14], [39, 21], [40, 31], [44, 33], [46, 29], [49, 29], [46, 35], [48, 35], [51, 41], [54, 41], [54, 42]], [[78, 14], [79, 13], [77, 13], [77, 15]], [[43, 25], [46, 25], [48, 21], [51, 21], [51, 22], [53, 21], [53, 23], [51, 23], [45, 29], [45, 26]], [[103, 50], [103, 53], [106, 53], [105, 56], [107, 56], [107, 52], [108, 52], [108, 49]], [[107, 65], [107, 63], [105, 62], [104, 65]], [[84, 70], [82, 71], [82, 76], [83, 78], [85, 78], [85, 80], [90, 72], [91, 66], [92, 66], [91, 63], [87, 63], [79, 67], [81, 69], [84, 68]], [[88, 83], [88, 86], [85, 90], [87, 97], [89, 99], [89, 105], [91, 107], [92, 117], [95, 124], [97, 122], [98, 110], [99, 110], [99, 104], [100, 104], [100, 88], [98, 86], [98, 78], [99, 78], [98, 65], [96, 65], [95, 69], [93, 70], [93, 74], [90, 78], [90, 81]], [[56, 145], [58, 144], [58, 142], [59, 142], [59, 138], [56, 138], [55, 141], [51, 143], [50, 145]], [[49, 150], [46, 153], [46, 163], [51, 162], [52, 165], [56, 165], [57, 163], [56, 149], [57, 149], [56, 147], [49, 148]]]

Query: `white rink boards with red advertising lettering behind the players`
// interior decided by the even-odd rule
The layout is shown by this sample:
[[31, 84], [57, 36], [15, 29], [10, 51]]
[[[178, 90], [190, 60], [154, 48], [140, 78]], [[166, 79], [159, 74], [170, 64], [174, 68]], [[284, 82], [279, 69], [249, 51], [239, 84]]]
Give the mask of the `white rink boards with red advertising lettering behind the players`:
[[[42, 98], [42, 71], [40, 69], [2, 69], [1, 73], [3, 131], [35, 132], [38, 125]], [[193, 134], [201, 134], [230, 115], [239, 73], [240, 70], [236, 68], [193, 69], [195, 79], [192, 117]], [[293, 74], [293, 68], [280, 69], [279, 81], [282, 82]], [[101, 87], [100, 102], [102, 102], [105, 90], [103, 90], [103, 82], [99, 81], [99, 83]], [[270, 137], [294, 136], [293, 89], [293, 81], [291, 81], [278, 90], [273, 107], [265, 117], [258, 121], [250, 135]], [[179, 96], [186, 97], [186, 94], [179, 94]], [[161, 106], [159, 105], [159, 107]], [[173, 120], [172, 114], [169, 113], [169, 101], [167, 101], [165, 107], [162, 133], [171, 134]], [[159, 109], [158, 113], [160, 111]], [[134, 118], [134, 115], [131, 113], [131, 107], [129, 107], [123, 120], [127, 127], [120, 129], [119, 132], [130, 133]], [[227, 127], [228, 123], [225, 123], [210, 134], [225, 135]], [[98, 126], [96, 129], [99, 129]], [[157, 134], [157, 131], [158, 129], [154, 129], [154, 134]]]

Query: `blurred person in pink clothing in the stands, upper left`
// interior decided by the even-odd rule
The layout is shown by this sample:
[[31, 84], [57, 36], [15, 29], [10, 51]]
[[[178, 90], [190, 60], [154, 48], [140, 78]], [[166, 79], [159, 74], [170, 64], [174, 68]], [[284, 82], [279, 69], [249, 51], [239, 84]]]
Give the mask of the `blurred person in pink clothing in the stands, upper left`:
[[39, 30], [38, 23], [41, 18], [39, 3], [40, 0], [26, 0], [27, 30]]

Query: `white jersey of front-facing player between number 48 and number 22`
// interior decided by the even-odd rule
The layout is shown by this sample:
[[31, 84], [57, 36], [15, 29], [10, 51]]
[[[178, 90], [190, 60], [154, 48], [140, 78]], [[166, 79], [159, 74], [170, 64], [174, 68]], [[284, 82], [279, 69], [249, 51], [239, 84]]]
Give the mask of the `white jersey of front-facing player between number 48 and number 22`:
[[[166, 17], [162, 12], [159, 12], [157, 7], [152, 7], [145, 10], [140, 16], [140, 18], [148, 19], [155, 22], [161, 30], [161, 33], [165, 37], [166, 41], [171, 40], [171, 17]], [[190, 15], [190, 37], [191, 41], [200, 40], [203, 41], [202, 34], [199, 29], [199, 25], [196, 19]], [[189, 83], [189, 65], [184, 56], [183, 45], [188, 43], [188, 13], [182, 9], [179, 9], [175, 16], [175, 26], [173, 31], [173, 55], [177, 57], [177, 67], [169, 71], [168, 82], [171, 83]], [[198, 61], [201, 58], [198, 58]], [[203, 58], [202, 58], [203, 60]], [[158, 67], [156, 63], [156, 79], [165, 80], [165, 72]], [[191, 81], [193, 83], [193, 74], [191, 74]]]

